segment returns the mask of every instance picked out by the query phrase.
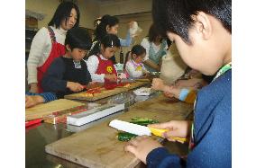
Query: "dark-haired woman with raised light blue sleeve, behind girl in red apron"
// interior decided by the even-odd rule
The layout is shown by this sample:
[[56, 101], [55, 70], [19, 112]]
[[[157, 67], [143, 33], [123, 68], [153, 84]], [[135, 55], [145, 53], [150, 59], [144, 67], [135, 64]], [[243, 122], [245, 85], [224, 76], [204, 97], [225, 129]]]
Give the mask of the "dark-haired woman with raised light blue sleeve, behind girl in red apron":
[[[119, 26], [118, 23], [119, 21], [116, 17], [108, 14], [105, 14], [100, 19], [100, 23], [96, 26], [96, 31], [95, 31], [96, 38], [94, 39], [93, 46], [87, 55], [88, 57], [95, 55], [96, 53], [99, 52], [100, 41], [103, 40], [106, 34], [114, 34], [114, 35], [117, 34], [118, 26]], [[120, 38], [119, 40], [120, 40], [121, 46], [125, 46], [125, 47], [130, 46], [132, 42], [132, 36], [130, 34], [130, 31], [127, 32], [125, 40]], [[114, 62], [114, 64], [116, 63], [115, 57], [111, 57], [110, 59]]]

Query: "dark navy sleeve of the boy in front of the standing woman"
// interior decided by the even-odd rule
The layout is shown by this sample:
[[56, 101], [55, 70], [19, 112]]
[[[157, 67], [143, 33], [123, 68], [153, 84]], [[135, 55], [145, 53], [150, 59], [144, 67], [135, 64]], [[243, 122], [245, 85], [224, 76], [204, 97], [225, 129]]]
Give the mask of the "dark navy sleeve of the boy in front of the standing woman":
[[56, 58], [51, 64], [41, 81], [44, 92], [65, 92], [67, 88], [66, 80], [63, 80], [65, 64], [60, 57]]

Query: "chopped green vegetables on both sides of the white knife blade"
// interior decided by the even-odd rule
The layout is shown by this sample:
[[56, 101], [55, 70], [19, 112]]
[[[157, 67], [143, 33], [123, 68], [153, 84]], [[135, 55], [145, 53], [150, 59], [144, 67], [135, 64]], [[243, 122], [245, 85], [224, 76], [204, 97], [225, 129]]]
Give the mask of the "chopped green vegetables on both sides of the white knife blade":
[[[141, 126], [148, 126], [149, 124], [159, 123], [156, 119], [148, 119], [148, 118], [133, 118], [131, 121], [133, 124], [138, 124]], [[128, 133], [128, 132], [119, 132], [117, 134], [117, 139], [120, 141], [129, 141], [131, 138], [137, 137], [137, 135]]]

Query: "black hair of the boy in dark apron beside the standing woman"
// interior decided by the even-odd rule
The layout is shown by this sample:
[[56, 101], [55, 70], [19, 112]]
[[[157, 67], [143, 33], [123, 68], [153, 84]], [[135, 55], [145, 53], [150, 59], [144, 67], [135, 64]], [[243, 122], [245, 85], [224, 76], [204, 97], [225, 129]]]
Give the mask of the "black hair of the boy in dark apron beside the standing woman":
[[67, 32], [65, 46], [70, 46], [70, 49], [85, 49], [89, 50], [92, 46], [92, 39], [86, 28], [72, 28]]

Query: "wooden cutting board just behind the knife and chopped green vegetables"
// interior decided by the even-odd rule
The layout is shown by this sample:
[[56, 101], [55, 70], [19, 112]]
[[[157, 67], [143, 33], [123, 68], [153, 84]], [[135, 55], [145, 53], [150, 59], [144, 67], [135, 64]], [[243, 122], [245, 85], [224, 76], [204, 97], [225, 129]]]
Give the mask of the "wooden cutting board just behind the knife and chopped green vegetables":
[[151, 100], [138, 102], [130, 107], [130, 110], [149, 110], [149, 111], [162, 111], [168, 113], [174, 113], [178, 115], [187, 115], [192, 111], [193, 104], [181, 102], [175, 98], [168, 98], [163, 94], [152, 98]]

